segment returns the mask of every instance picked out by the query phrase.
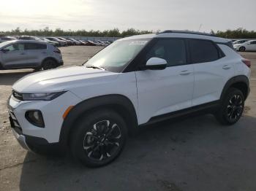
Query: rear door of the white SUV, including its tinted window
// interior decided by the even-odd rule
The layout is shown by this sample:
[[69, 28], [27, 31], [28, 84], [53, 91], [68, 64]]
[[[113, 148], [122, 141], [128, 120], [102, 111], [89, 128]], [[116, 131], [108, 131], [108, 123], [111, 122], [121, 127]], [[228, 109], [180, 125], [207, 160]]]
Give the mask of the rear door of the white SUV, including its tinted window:
[[195, 72], [192, 105], [219, 100], [225, 83], [234, 76], [233, 61], [209, 40], [189, 39], [189, 50]]

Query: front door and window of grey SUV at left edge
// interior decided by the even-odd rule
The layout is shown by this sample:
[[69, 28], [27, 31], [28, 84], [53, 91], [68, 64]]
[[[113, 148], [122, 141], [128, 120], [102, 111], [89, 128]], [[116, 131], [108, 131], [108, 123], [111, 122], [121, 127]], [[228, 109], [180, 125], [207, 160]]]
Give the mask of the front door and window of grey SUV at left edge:
[[26, 53], [24, 51], [23, 43], [10, 44], [4, 49], [7, 52], [1, 53], [1, 58], [3, 61], [3, 66], [5, 69], [20, 69], [23, 68], [26, 63]]

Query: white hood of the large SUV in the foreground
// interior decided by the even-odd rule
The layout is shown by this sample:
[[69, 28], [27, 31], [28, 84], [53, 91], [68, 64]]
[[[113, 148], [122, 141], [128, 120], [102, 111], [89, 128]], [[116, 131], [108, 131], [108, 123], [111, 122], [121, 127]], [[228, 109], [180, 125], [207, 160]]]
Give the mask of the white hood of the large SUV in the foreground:
[[58, 92], [83, 87], [86, 84], [97, 85], [100, 82], [116, 79], [117, 76], [118, 73], [110, 71], [72, 66], [26, 75], [15, 82], [12, 89], [19, 93]]

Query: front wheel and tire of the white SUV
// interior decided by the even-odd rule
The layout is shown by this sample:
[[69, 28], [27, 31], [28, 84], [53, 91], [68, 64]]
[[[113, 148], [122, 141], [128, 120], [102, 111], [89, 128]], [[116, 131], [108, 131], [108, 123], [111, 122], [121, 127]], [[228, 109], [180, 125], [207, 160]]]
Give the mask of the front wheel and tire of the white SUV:
[[76, 126], [70, 149], [73, 157], [84, 165], [107, 165], [121, 154], [127, 139], [127, 125], [116, 112], [109, 109], [91, 112]]

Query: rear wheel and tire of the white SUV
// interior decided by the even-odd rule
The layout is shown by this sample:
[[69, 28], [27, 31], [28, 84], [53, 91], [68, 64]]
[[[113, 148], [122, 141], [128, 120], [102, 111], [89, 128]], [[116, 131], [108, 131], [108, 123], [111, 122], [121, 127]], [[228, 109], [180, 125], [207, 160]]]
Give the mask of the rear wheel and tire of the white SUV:
[[215, 117], [222, 125], [233, 125], [244, 111], [244, 95], [241, 90], [231, 87], [227, 90]]

